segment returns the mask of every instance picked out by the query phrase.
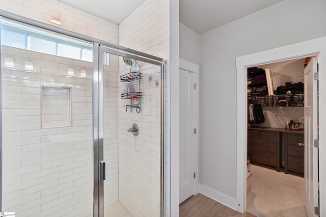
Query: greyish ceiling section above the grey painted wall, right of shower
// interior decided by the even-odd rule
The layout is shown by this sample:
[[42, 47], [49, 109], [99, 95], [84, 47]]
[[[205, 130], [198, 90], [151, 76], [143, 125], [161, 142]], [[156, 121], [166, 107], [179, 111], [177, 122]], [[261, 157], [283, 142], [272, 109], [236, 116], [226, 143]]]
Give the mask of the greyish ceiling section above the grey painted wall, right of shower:
[[[198, 34], [230, 23], [282, 0], [180, 0], [180, 22]], [[275, 13], [277, 15], [277, 12]]]

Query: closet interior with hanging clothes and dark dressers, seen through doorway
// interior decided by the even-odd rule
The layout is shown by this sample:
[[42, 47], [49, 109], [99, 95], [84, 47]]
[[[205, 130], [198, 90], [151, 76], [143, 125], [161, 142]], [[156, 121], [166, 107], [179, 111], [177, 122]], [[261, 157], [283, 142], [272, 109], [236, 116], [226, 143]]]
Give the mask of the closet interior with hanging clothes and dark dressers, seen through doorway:
[[312, 96], [303, 83], [313, 61], [317, 66], [317, 57], [307, 57], [247, 69], [247, 211], [257, 216], [307, 216], [304, 118]]

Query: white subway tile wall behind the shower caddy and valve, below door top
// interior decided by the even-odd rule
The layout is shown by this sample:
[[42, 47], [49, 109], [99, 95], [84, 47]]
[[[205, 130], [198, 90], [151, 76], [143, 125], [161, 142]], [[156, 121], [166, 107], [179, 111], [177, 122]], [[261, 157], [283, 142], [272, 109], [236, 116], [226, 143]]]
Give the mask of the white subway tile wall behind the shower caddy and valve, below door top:
[[[160, 67], [140, 61], [138, 63], [142, 79], [133, 81], [133, 85], [135, 91], [142, 92], [141, 111], [137, 113], [135, 108], [130, 111], [123, 107], [130, 105], [134, 99], [118, 100], [119, 201], [132, 216], [159, 216]], [[130, 66], [119, 57], [119, 75], [129, 72]], [[123, 84], [118, 84], [119, 95], [123, 93]], [[133, 123], [139, 127], [137, 137], [127, 132]]]

